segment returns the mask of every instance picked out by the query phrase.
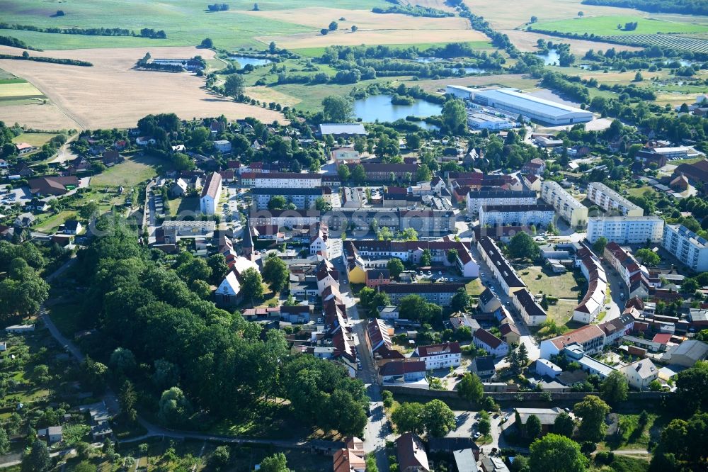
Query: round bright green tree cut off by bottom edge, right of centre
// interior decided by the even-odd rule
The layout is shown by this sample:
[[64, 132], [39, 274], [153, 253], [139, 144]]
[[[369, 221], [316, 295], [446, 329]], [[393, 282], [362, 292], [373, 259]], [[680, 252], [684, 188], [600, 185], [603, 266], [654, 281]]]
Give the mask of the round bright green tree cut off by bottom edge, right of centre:
[[580, 444], [565, 436], [546, 434], [531, 444], [529, 466], [532, 471], [582, 472], [588, 468], [588, 458]]

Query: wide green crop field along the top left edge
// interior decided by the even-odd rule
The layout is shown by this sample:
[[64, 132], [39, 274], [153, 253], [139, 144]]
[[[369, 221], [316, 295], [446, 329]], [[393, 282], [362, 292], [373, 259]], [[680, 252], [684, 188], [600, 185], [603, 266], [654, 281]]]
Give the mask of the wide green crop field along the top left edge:
[[[86, 0], [81, 2], [47, 3], [43, 0], [2, 1], [2, 21], [40, 28], [126, 28], [138, 32], [141, 28], [165, 30], [167, 39], [107, 37], [36, 33], [23, 30], [0, 30], [42, 49], [74, 49], [94, 47], [135, 47], [198, 45], [212, 38], [217, 47], [262, 47], [253, 39], [258, 35], [287, 35], [312, 32], [313, 28], [244, 13], [253, 9], [253, 1], [231, 2], [229, 11], [210, 12], [205, 0]], [[384, 0], [340, 0], [339, 9], [365, 9], [383, 6]], [[291, 2], [266, 0], [258, 2], [261, 11], [287, 10]], [[324, 0], [298, 0], [297, 8], [307, 6], [335, 7]], [[53, 16], [62, 9], [65, 16]]]

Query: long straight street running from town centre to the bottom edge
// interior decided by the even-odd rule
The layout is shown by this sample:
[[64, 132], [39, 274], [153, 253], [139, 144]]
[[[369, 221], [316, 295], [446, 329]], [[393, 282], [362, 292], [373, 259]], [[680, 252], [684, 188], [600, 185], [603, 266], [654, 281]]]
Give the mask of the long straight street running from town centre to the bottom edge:
[[371, 417], [365, 428], [364, 450], [375, 453], [379, 471], [387, 471], [389, 470], [389, 460], [386, 456], [386, 441], [393, 441], [394, 436], [391, 425], [389, 425], [388, 419], [384, 414], [384, 404], [381, 398], [381, 387], [377, 381], [376, 366], [366, 347], [364, 337], [365, 320], [359, 317], [356, 300], [352, 296], [351, 287], [346, 278], [346, 267], [341, 258], [336, 259], [335, 266], [341, 274], [345, 274], [345, 276], [340, 277], [340, 291], [344, 298], [343, 302], [347, 306], [347, 316], [353, 324], [354, 334], [357, 339], [358, 358], [362, 362], [362, 369], [358, 371], [357, 376], [364, 382], [371, 399]]

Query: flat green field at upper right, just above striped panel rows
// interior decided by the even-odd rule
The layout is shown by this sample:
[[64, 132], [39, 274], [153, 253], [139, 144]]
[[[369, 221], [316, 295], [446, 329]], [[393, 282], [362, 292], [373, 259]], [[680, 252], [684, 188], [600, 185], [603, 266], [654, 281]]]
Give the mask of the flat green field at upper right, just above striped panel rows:
[[[698, 17], [701, 18], [701, 17]], [[636, 30], [624, 31], [617, 25], [636, 21]], [[642, 16], [591, 16], [587, 18], [572, 18], [559, 21], [540, 21], [529, 26], [529, 30], [558, 31], [559, 33], [584, 34], [595, 33], [596, 36], [639, 35], [655, 33], [705, 33], [708, 32], [708, 22], [697, 19], [696, 23], [680, 23], [678, 21], [662, 21]]]

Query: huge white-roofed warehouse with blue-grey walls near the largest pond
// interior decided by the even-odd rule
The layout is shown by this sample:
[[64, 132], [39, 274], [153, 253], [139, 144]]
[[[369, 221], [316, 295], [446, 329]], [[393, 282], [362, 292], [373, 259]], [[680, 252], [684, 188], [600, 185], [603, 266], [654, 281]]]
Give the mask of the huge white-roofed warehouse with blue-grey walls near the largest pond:
[[549, 125], [572, 125], [593, 119], [593, 113], [590, 111], [539, 99], [514, 89], [475, 90], [473, 100], [482, 106], [491, 106]]

